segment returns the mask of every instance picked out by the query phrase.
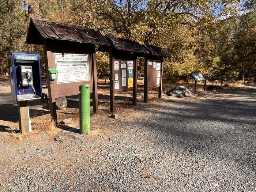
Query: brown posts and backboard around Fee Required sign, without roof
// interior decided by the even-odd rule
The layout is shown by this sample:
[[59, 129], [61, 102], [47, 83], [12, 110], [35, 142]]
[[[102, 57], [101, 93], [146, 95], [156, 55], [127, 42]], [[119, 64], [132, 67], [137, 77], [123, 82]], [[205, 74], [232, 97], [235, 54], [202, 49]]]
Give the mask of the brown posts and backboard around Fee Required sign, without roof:
[[[57, 124], [56, 98], [67, 97], [79, 94], [79, 86], [90, 83], [90, 93], [93, 93], [93, 112], [98, 112], [98, 93], [97, 93], [97, 68], [94, 44], [81, 44], [78, 42], [60, 41], [43, 39], [44, 41], [44, 55], [45, 68], [47, 74], [48, 91], [49, 91], [49, 105], [51, 117], [54, 123]], [[90, 81], [63, 83], [57, 84], [57, 80], [50, 80], [48, 68], [56, 68], [54, 53], [74, 53], [74, 54], [88, 54], [89, 58], [89, 74]]]

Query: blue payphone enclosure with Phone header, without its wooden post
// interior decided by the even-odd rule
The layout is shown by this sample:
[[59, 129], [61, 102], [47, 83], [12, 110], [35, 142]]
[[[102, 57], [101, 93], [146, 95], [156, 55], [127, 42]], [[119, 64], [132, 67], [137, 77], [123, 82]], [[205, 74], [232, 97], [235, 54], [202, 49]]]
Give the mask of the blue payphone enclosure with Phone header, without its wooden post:
[[42, 98], [42, 81], [39, 54], [10, 52], [11, 95], [13, 101], [29, 101]]

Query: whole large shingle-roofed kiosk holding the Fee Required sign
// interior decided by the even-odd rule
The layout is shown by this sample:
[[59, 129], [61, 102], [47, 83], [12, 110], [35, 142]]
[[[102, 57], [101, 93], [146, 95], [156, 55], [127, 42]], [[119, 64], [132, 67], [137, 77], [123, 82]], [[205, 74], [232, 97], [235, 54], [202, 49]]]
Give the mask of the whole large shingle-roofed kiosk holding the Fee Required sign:
[[95, 44], [110, 45], [98, 30], [32, 17], [26, 43], [44, 45], [50, 113], [56, 124], [55, 99], [78, 95], [82, 84], [90, 84], [93, 112], [98, 112]]

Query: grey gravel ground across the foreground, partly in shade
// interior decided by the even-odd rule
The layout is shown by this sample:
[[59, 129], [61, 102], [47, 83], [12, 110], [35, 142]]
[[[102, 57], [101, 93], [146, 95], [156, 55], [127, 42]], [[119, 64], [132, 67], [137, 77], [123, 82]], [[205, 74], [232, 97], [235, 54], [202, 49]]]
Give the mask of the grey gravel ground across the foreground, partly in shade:
[[0, 191], [256, 191], [256, 86], [95, 119], [63, 142], [0, 132]]

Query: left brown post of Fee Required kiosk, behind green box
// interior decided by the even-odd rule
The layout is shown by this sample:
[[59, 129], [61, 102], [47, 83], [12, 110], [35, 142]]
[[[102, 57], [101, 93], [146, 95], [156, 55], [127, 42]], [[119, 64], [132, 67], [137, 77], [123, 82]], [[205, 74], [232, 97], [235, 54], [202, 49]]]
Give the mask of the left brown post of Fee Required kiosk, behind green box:
[[57, 125], [57, 110], [56, 110], [56, 101], [55, 101], [55, 89], [54, 89], [54, 81], [50, 80], [50, 74], [47, 70], [48, 68], [52, 68], [52, 55], [50, 49], [50, 42], [44, 38], [44, 55], [45, 55], [45, 70], [47, 75], [47, 83], [48, 83], [48, 93], [49, 93], [49, 105], [50, 105], [50, 113], [51, 117], [54, 120], [54, 123]]

